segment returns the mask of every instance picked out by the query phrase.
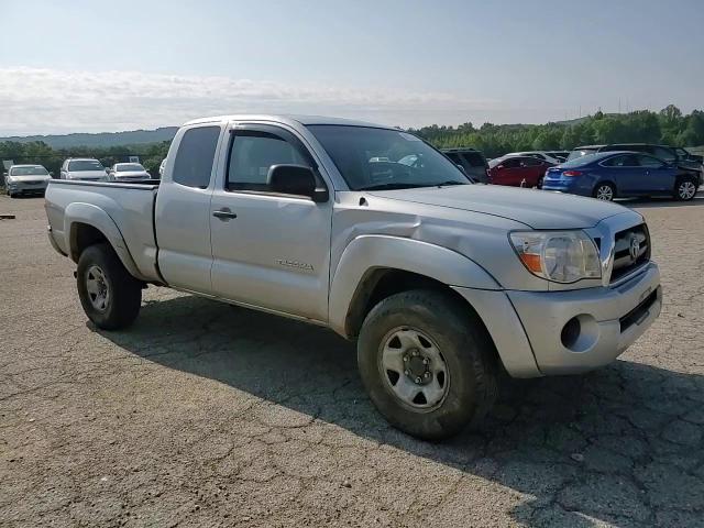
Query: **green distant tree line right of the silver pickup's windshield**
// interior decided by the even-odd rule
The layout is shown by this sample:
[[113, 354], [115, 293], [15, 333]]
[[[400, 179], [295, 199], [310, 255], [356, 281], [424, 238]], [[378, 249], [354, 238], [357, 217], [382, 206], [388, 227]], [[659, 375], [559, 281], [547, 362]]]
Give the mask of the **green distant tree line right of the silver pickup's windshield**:
[[651, 112], [605, 114], [596, 112], [572, 122], [547, 124], [492, 124], [476, 129], [432, 124], [410, 130], [433, 145], [446, 148], [471, 146], [487, 157], [507, 152], [571, 150], [579, 145], [605, 143], [659, 143], [672, 146], [704, 145], [704, 111], [683, 116], [673, 105]]

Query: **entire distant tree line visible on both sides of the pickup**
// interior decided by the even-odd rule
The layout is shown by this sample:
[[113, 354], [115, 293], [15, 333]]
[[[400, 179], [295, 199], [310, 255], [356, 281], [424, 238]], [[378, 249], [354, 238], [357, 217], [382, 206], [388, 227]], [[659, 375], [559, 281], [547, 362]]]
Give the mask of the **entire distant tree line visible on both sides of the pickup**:
[[[547, 124], [492, 124], [479, 129], [472, 123], [459, 127], [432, 124], [410, 129], [438, 147], [471, 146], [483, 151], [487, 157], [507, 152], [570, 150], [579, 145], [601, 143], [661, 143], [672, 146], [704, 145], [704, 111], [694, 110], [683, 116], [673, 105], [659, 112], [638, 110], [630, 113], [605, 114], [596, 112], [571, 122]], [[95, 157], [106, 167], [139, 156], [142, 165], [156, 175], [158, 165], [166, 157], [168, 141], [139, 145], [110, 147], [77, 146], [52, 148], [42, 141], [18, 143], [0, 142], [0, 161], [38, 163], [58, 176], [67, 157]]]

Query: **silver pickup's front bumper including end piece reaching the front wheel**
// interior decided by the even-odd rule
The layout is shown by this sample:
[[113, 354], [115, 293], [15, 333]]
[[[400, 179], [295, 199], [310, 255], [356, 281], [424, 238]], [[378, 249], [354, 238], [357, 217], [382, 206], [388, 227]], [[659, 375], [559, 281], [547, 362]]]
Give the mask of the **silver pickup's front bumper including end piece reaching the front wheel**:
[[[604, 366], [642, 336], [662, 307], [660, 272], [652, 262], [613, 287], [568, 292], [453, 289], [480, 315], [513, 377], [576, 374]], [[574, 333], [563, 334], [573, 318], [579, 321], [576, 338]]]

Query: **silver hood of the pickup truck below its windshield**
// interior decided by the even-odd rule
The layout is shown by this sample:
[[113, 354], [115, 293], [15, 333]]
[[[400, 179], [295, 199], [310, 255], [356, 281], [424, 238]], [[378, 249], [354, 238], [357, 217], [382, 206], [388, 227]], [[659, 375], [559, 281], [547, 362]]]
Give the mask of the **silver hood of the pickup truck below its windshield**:
[[[449, 207], [515, 220], [534, 229], [585, 229], [629, 209], [574, 195], [498, 185], [371, 191], [382, 198]], [[636, 215], [636, 213], [634, 213]]]

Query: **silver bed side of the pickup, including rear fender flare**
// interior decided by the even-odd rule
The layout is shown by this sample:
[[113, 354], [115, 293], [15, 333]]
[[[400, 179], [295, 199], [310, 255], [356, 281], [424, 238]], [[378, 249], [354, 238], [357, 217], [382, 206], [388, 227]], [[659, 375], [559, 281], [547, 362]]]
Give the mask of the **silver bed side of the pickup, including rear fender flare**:
[[[81, 223], [98, 228], [125, 267], [138, 278], [158, 282], [154, 205], [160, 180], [77, 182], [52, 179], [46, 189], [50, 237], [72, 254], [72, 237]], [[127, 262], [130, 261], [130, 262]]]

